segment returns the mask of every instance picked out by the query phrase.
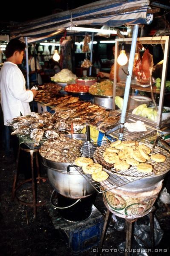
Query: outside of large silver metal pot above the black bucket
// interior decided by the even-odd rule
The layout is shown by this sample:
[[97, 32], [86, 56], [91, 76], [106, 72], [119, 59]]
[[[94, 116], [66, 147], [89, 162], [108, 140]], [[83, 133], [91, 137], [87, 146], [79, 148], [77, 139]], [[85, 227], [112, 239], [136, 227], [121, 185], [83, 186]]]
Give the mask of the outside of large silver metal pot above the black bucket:
[[70, 163], [58, 163], [42, 157], [49, 182], [56, 192], [68, 198], [86, 198], [95, 192], [90, 183]]

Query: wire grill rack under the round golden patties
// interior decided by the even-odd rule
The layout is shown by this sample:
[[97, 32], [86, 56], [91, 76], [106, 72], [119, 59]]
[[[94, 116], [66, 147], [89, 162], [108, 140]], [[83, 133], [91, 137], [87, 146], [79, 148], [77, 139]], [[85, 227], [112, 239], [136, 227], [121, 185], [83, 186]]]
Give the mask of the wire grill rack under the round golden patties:
[[[69, 157], [61, 151], [63, 157], [75, 166], [75, 169], [99, 192], [103, 193], [110, 189], [114, 189], [116, 187], [123, 186], [125, 184], [131, 183], [135, 180], [139, 180], [145, 177], [155, 176], [170, 170], [170, 153], [161, 148], [159, 146], [155, 146], [153, 150], [153, 143], [156, 139], [156, 136], [148, 136], [140, 140], [140, 144], [147, 145], [151, 149], [150, 154], [164, 154], [166, 156], [166, 160], [163, 163], [156, 163], [153, 160], [147, 160], [148, 164], [153, 166], [153, 172], [151, 173], [140, 173], [137, 171], [136, 167], [131, 166], [130, 169], [124, 171], [117, 171], [114, 168], [113, 164], [109, 164], [104, 161], [103, 153], [107, 147], [109, 147], [111, 141], [105, 140], [98, 143], [85, 143], [81, 148], [81, 156], [82, 157], [90, 157], [94, 160], [95, 163], [99, 163], [103, 166], [103, 170], [109, 174], [107, 180], [102, 182], [96, 182], [92, 179], [92, 176], [89, 174], [84, 174], [81, 167], [75, 166], [74, 162], [70, 161]], [[125, 140], [125, 139], [124, 139]], [[127, 140], [127, 139], [126, 139]], [[129, 140], [129, 138], [128, 138]], [[153, 152], [152, 152], [153, 150]], [[70, 152], [71, 153], [71, 152]], [[74, 151], [72, 152], [74, 154]], [[78, 156], [79, 157], [79, 156]]]

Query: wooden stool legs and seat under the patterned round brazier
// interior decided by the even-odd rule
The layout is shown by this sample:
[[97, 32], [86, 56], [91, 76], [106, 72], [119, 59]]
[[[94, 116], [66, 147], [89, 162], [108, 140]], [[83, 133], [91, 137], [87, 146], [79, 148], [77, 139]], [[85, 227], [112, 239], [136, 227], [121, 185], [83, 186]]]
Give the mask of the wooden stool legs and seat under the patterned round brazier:
[[[153, 220], [153, 211], [155, 210], [155, 207], [153, 207], [152, 211], [149, 213], [150, 214], [150, 234], [151, 234], [151, 244], [152, 244], [152, 251], [154, 250], [155, 246], [155, 240], [154, 240], [154, 220]], [[101, 250], [102, 246], [104, 243], [104, 238], [106, 235], [107, 227], [109, 224], [109, 218], [110, 218], [110, 211], [107, 209], [107, 213], [105, 216], [105, 221], [104, 221], [104, 226], [103, 226], [103, 231], [101, 234], [101, 241], [98, 249], [98, 255], [101, 255]], [[142, 218], [142, 217], [141, 217]], [[125, 243], [125, 256], [128, 256], [130, 253], [130, 248], [131, 248], [131, 238], [132, 238], [132, 224], [133, 222], [137, 221], [138, 218], [136, 219], [125, 219], [126, 220], [126, 243]]]

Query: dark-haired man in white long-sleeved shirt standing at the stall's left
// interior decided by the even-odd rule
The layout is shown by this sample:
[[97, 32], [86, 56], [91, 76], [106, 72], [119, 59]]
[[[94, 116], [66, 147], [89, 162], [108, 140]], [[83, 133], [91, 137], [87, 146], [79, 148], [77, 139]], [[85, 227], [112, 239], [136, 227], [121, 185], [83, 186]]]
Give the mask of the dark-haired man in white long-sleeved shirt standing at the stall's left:
[[31, 113], [29, 102], [37, 95], [36, 90], [26, 90], [23, 73], [17, 67], [23, 61], [25, 44], [12, 39], [6, 47], [6, 62], [0, 70], [0, 92], [5, 128], [6, 154], [9, 154], [9, 124], [7, 120]]

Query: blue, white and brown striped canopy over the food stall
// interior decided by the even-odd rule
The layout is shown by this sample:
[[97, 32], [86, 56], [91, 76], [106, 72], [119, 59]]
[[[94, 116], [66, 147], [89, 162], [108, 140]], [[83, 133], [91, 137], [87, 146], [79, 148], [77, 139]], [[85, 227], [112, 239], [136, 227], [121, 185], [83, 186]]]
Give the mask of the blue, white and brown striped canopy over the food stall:
[[101, 0], [15, 25], [11, 37], [27, 37], [28, 42], [33, 42], [53, 37], [70, 26], [148, 24], [149, 3], [149, 0]]

